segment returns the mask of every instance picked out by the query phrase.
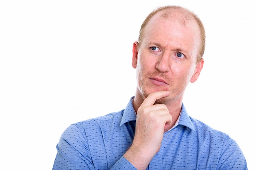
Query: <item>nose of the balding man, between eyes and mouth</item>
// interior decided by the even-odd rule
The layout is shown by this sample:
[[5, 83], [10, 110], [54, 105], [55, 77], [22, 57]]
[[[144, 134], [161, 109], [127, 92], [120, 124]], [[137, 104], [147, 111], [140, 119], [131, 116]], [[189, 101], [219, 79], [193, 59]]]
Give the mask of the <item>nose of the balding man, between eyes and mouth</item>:
[[163, 52], [161, 56], [159, 56], [158, 61], [155, 65], [155, 68], [159, 70], [159, 72], [168, 72], [170, 71], [170, 60], [171, 57], [167, 52]]

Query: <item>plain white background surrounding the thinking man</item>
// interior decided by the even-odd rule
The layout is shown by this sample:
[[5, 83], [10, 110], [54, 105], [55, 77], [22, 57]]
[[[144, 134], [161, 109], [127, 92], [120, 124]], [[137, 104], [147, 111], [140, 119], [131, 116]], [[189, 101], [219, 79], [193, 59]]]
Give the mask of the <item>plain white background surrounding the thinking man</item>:
[[0, 2], [0, 169], [49, 170], [74, 122], [124, 109], [134, 95], [132, 43], [153, 9], [194, 11], [207, 35], [204, 68], [184, 104], [229, 134], [255, 164], [256, 2], [3, 0]]

